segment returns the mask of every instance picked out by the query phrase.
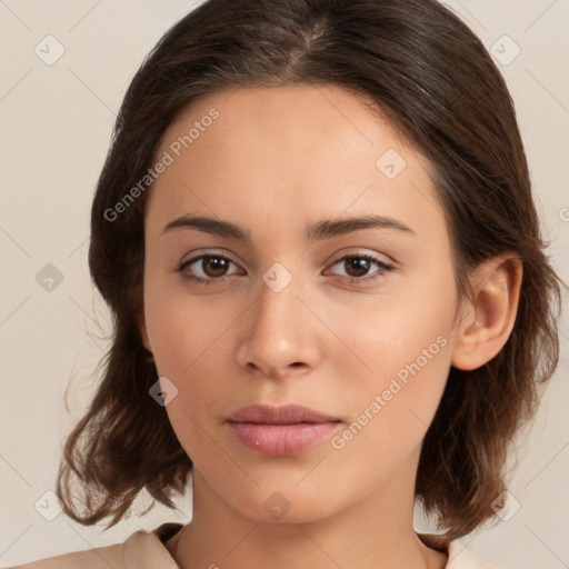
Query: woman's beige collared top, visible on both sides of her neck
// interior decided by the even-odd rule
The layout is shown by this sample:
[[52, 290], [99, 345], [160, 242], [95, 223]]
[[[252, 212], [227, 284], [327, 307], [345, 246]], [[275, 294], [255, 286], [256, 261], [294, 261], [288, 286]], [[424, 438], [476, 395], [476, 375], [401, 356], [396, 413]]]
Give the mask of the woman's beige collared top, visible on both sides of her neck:
[[[181, 523], [162, 523], [151, 532], [136, 531], [123, 543], [64, 553], [7, 569], [180, 569], [163, 543], [181, 528]], [[445, 569], [497, 569], [458, 541], [445, 541], [430, 533], [418, 536], [427, 546], [449, 556]]]

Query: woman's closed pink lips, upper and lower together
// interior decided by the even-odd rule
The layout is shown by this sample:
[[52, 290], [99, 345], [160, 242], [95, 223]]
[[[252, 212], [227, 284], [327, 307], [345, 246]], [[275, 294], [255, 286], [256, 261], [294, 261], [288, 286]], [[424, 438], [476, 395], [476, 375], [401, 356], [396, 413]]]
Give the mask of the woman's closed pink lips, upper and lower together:
[[231, 432], [249, 450], [260, 455], [296, 455], [328, 438], [341, 420], [299, 405], [252, 405], [227, 419]]

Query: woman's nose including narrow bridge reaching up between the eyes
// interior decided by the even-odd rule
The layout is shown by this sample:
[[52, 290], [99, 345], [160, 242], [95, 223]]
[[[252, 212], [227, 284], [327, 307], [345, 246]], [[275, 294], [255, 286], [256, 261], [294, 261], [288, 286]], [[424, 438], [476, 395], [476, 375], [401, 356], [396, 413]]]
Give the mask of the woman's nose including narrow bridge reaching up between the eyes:
[[317, 341], [307, 309], [297, 298], [302, 296], [299, 287], [300, 279], [280, 263], [262, 274], [239, 347], [242, 366], [254, 366], [278, 377], [291, 365], [315, 365]]

